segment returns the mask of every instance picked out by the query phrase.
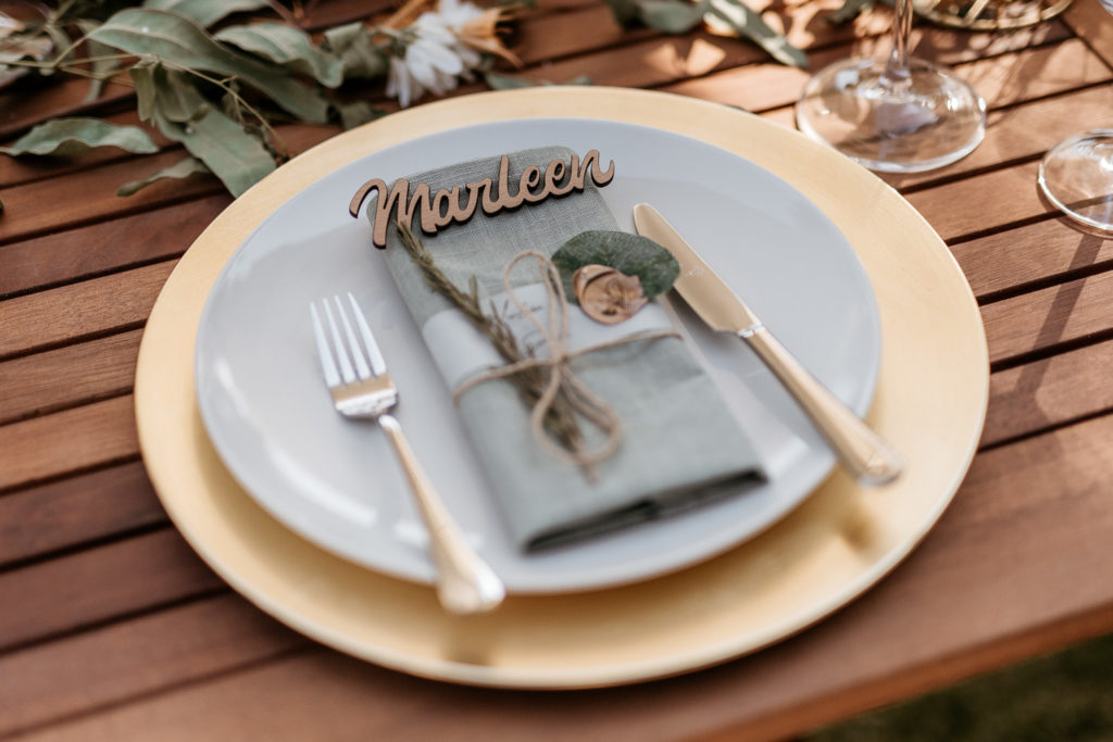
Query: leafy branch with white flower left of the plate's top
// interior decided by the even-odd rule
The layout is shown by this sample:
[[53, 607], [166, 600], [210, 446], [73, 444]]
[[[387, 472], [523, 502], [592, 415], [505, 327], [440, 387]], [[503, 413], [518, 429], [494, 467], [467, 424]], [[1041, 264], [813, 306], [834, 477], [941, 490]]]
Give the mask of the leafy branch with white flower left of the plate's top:
[[[434, 1], [407, 3], [411, 22]], [[304, 6], [296, 0], [292, 9], [275, 0], [144, 0], [141, 7], [117, 10], [119, 4], [66, 0], [39, 20], [0, 26], [0, 86], [32, 88], [58, 76], [82, 77], [90, 80], [87, 102], [99, 98], [105, 85], [129, 86], [149, 129], [96, 118], [55, 119], [0, 151], [69, 156], [110, 146], [147, 154], [158, 149], [148, 133], [154, 129], [180, 144], [188, 157], [127, 184], [121, 195], [162, 177], [209, 171], [238, 196], [288, 159], [277, 122], [338, 121], [347, 129], [383, 116], [385, 110], [365, 100], [345, 100], [338, 89], [351, 80], [386, 77], [421, 37], [386, 19], [332, 27], [315, 40], [299, 26], [313, 0]], [[225, 22], [232, 13], [267, 10], [280, 20]], [[503, 49], [495, 33], [506, 12], [482, 13], [486, 24], [479, 32], [470, 28], [471, 36], [445, 53], [462, 58], [465, 42], [481, 44], [484, 53], [471, 51], [467, 59], [490, 66]], [[214, 27], [219, 28], [210, 31]], [[454, 29], [445, 28], [452, 38]], [[82, 48], [87, 53], [79, 56]], [[456, 85], [454, 76], [451, 86], [439, 80]], [[416, 83], [408, 88], [412, 98], [422, 91]]]

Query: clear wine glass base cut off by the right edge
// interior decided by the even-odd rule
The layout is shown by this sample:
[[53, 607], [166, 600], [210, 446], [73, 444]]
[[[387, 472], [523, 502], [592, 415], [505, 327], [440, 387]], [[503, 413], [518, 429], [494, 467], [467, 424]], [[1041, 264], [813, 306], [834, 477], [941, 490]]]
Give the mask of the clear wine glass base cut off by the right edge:
[[1086, 131], [1055, 145], [1040, 164], [1037, 182], [1066, 216], [1113, 231], [1113, 129]]

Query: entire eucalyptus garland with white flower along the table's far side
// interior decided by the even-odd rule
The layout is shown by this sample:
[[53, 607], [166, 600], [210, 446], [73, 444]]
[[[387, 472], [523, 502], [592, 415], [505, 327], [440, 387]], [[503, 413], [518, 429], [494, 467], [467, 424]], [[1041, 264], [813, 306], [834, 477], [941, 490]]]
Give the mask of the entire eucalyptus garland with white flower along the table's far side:
[[[781, 62], [806, 63], [740, 0], [607, 2], [622, 23], [683, 33], [707, 22], [757, 41]], [[302, 0], [290, 7], [277, 0], [62, 0], [32, 20], [0, 13], [0, 87], [32, 89], [79, 76], [89, 80], [85, 102], [93, 105], [106, 85], [128, 86], [145, 125], [57, 118], [0, 152], [66, 157], [115, 147], [141, 155], [158, 151], [149, 133], [157, 130], [186, 156], [124, 184], [120, 196], [197, 172], [211, 172], [238, 196], [289, 157], [280, 123], [337, 122], [347, 129], [386, 113], [339, 95], [346, 82], [385, 79], [386, 95], [403, 107], [481, 76], [495, 89], [538, 85], [491, 71], [496, 59], [520, 63], [501, 36], [521, 4], [407, 0], [380, 22], [337, 24], [315, 36], [301, 27], [307, 10]], [[237, 13], [255, 20], [236, 22]]]

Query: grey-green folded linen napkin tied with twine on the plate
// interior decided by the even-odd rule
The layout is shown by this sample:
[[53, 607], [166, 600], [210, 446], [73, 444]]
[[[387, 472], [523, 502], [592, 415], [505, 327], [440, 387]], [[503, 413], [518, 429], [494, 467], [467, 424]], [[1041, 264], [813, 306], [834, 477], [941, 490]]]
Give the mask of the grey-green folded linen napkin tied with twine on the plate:
[[[564, 147], [514, 152], [510, 155], [510, 182], [516, 184], [521, 171], [531, 165], [543, 170], [553, 159], [567, 164], [571, 155]], [[499, 160], [485, 158], [416, 174], [410, 177], [411, 188], [425, 182], [435, 194], [440, 188], [494, 178]], [[621, 177], [621, 162], [618, 165]], [[367, 212], [374, 218], [374, 202]], [[504, 291], [503, 269], [520, 253], [552, 255], [581, 231], [617, 230], [618, 225], [589, 180], [582, 192], [514, 211], [487, 217], [476, 210], [466, 224], [442, 227], [436, 235], [422, 235], [416, 222], [412, 228], [454, 284], [466, 288], [474, 276], [481, 296], [492, 297]], [[384, 256], [426, 343], [444, 338], [444, 333], [432, 332], [432, 326], [439, 324], [437, 317], [459, 313], [429, 287], [393, 227]], [[515, 287], [540, 280], [536, 271], [524, 269], [515, 269], [513, 278]], [[486, 299], [483, 306], [487, 306]], [[580, 314], [575, 306], [569, 311]], [[614, 332], [621, 335], [626, 324], [614, 326], [619, 328]], [[431, 349], [436, 356], [436, 348]], [[459, 398], [460, 415], [490, 477], [506, 527], [523, 550], [666, 516], [738, 493], [747, 483], [762, 478], [752, 445], [679, 337], [639, 339], [591, 350], [570, 363], [622, 423], [619, 451], [597, 466], [593, 481], [575, 464], [538, 445], [530, 429], [530, 410], [509, 382], [487, 380]], [[455, 387], [456, 382], [450, 379], [450, 385]], [[590, 424], [584, 423], [583, 429], [589, 443], [598, 442], [592, 437], [598, 432]]]

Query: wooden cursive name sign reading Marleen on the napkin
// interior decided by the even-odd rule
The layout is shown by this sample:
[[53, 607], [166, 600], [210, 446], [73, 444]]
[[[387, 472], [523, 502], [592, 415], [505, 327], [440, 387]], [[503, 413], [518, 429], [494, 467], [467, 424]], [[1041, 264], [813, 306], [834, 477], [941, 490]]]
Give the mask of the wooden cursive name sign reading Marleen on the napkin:
[[[563, 160], [551, 161], [545, 166], [544, 176], [541, 175], [541, 168], [531, 165], [522, 170], [522, 176], [518, 179], [518, 192], [512, 194], [510, 158], [503, 155], [499, 161], [498, 186], [491, 178], [484, 178], [479, 182], [470, 182], [464, 188], [442, 188], [433, 196], [429, 184], [422, 182], [417, 184], [411, 196], [410, 181], [398, 178], [387, 195], [386, 184], [381, 178], [374, 178], [359, 187], [348, 205], [348, 211], [358, 217], [359, 208], [371, 191], [378, 191], [372, 241], [375, 247], [383, 249], [386, 247], [386, 227], [392, 211], [396, 211], [394, 218], [405, 225], [412, 224], [415, 212], [418, 212], [421, 230], [426, 235], [435, 235], [441, 227], [471, 219], [476, 207], [482, 208], [483, 214], [492, 216], [503, 209], [516, 209], [522, 204], [536, 204], [550, 196], [560, 197], [573, 190], [583, 190], [589, 177], [597, 186], [605, 186], [614, 178], [614, 161], [603, 170], [599, 165], [599, 150], [592, 149], [583, 156], [583, 161], [578, 155], [572, 155], [567, 164]], [[461, 206], [460, 196], [464, 189], [467, 190], [467, 202]]]

